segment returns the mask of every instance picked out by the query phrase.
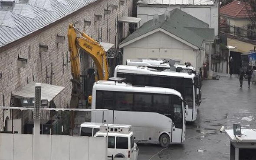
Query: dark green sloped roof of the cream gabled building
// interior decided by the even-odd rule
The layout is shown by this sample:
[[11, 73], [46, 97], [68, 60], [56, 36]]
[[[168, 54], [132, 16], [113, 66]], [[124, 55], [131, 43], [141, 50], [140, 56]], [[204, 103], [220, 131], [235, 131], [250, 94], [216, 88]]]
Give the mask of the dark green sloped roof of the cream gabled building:
[[139, 29], [125, 38], [120, 45], [150, 31], [161, 28], [200, 48], [203, 40], [206, 40], [205, 38], [207, 38], [207, 40], [214, 40], [214, 29], [209, 29], [208, 27], [209, 25], [207, 23], [179, 9], [174, 9], [170, 11], [170, 17], [167, 20], [165, 20], [165, 16], [163, 14], [159, 16], [159, 21], [156, 24], [153, 19], [145, 22]]

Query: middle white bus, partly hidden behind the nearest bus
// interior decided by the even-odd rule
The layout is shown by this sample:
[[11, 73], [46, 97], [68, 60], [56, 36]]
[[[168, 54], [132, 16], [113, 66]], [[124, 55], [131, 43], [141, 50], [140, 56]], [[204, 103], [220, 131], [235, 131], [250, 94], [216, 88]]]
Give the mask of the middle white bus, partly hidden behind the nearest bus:
[[148, 67], [118, 65], [114, 77], [126, 79], [126, 83], [138, 86], [157, 86], [177, 90], [188, 104], [186, 120], [193, 122], [197, 118], [200, 104], [199, 88], [195, 74], [183, 72], [159, 71]]

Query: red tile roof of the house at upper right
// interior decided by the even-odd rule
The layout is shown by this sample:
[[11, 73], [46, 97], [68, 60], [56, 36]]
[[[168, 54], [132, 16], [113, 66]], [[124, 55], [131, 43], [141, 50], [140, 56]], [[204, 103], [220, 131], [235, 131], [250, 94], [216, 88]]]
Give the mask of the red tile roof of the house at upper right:
[[220, 8], [220, 15], [230, 16], [233, 18], [249, 18], [246, 8], [249, 8], [248, 3], [234, 0]]

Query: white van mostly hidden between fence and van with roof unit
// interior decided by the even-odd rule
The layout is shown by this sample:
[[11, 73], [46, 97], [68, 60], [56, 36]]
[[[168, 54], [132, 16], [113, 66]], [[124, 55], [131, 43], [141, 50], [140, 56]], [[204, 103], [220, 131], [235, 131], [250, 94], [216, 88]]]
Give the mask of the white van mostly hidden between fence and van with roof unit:
[[80, 125], [79, 135], [93, 137], [99, 131], [100, 125], [102, 123], [84, 122]]

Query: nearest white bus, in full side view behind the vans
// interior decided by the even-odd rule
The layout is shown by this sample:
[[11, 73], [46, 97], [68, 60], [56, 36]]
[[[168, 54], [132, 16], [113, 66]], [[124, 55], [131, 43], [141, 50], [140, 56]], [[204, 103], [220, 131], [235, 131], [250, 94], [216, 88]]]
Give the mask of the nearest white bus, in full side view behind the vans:
[[91, 122], [132, 125], [135, 141], [159, 141], [162, 147], [185, 140], [185, 109], [181, 93], [159, 87], [131, 86], [99, 80], [92, 89]]

